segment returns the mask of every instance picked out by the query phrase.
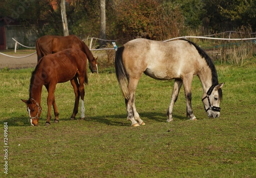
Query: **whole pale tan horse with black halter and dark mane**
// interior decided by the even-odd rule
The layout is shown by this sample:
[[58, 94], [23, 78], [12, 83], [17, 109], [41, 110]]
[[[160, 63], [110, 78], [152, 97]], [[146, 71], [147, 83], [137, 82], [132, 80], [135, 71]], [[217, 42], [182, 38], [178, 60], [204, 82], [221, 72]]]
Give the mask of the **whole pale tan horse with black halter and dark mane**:
[[[198, 76], [203, 86], [202, 102], [209, 118], [220, 116], [222, 86], [210, 57], [188, 40], [172, 42], [134, 39], [118, 48], [115, 58], [116, 76], [132, 126], [144, 125], [135, 106], [135, 90], [144, 73], [158, 80], [174, 79], [173, 94], [167, 110], [167, 122], [173, 121], [173, 107], [182, 84], [186, 98], [187, 116], [196, 120], [191, 107], [191, 82]], [[128, 83], [128, 84], [127, 84]]]

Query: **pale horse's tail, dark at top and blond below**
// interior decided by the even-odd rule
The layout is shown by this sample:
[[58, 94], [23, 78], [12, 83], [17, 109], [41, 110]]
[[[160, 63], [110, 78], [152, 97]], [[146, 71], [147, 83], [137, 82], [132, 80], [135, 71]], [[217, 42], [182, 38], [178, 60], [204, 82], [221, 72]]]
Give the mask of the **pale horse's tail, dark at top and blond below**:
[[129, 78], [127, 77], [126, 70], [123, 65], [123, 57], [122, 57], [123, 50], [124, 50], [124, 47], [120, 47], [116, 51], [116, 58], [115, 58], [116, 78], [122, 90], [124, 98], [129, 99], [130, 92], [127, 88], [127, 81], [129, 80]]

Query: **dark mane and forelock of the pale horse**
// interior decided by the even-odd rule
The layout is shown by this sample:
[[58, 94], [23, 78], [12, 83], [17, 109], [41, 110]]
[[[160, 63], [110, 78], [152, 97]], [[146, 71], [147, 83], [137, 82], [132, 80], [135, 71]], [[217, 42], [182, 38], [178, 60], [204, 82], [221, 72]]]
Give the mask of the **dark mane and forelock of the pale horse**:
[[[211, 76], [212, 76], [212, 78], [211, 78], [212, 81], [211, 82], [212, 82], [212, 85], [218, 85], [219, 81], [218, 81], [217, 70], [215, 68], [214, 62], [212, 62], [212, 60], [208, 56], [208, 54], [202, 48], [197, 46], [197, 44], [195, 44], [194, 42], [189, 41], [187, 39], [181, 39], [181, 40], [189, 42], [189, 44], [192, 44], [197, 49], [198, 53], [200, 54], [200, 56], [202, 58], [205, 59], [207, 65], [209, 66], [209, 68], [211, 70]], [[222, 90], [221, 90], [221, 88], [218, 90], [218, 93], [219, 93], [219, 98], [222, 99]]]

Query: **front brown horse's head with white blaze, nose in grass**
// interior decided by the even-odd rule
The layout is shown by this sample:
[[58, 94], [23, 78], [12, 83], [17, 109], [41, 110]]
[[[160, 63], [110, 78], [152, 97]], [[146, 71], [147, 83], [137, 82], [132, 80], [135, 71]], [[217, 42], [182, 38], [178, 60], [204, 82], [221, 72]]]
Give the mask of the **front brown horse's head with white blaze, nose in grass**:
[[27, 105], [27, 110], [29, 113], [29, 119], [32, 126], [38, 125], [38, 120], [41, 115], [41, 106], [38, 104], [33, 98], [30, 98], [28, 100], [23, 100], [23, 102]]

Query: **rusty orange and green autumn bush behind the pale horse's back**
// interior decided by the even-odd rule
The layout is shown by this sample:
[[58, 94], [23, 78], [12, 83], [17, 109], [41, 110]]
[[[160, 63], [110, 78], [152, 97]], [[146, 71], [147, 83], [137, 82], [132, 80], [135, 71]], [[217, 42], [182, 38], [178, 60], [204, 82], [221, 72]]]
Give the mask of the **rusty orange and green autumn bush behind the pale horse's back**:
[[179, 6], [160, 4], [159, 1], [122, 1], [118, 4], [117, 13], [119, 36], [124, 40], [176, 37], [180, 35], [184, 23]]

